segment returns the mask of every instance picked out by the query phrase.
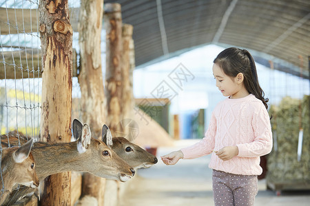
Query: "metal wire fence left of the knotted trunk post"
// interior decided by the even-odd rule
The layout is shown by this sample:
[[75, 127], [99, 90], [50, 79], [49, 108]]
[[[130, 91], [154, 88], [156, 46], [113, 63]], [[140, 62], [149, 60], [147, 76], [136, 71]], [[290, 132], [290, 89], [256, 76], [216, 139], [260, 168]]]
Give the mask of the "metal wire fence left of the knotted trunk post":
[[[8, 137], [39, 137], [41, 115], [41, 42], [39, 0], [0, 3], [0, 131]], [[20, 142], [19, 145], [20, 146]], [[8, 147], [12, 147], [8, 139]], [[0, 145], [0, 161], [4, 146]], [[0, 199], [5, 190], [1, 161]]]

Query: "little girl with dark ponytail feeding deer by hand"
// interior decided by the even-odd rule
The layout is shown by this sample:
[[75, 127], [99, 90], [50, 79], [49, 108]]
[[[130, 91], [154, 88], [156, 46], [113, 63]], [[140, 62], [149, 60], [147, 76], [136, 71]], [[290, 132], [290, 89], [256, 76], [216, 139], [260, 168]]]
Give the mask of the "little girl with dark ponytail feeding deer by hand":
[[226, 98], [211, 115], [205, 137], [193, 146], [161, 157], [166, 165], [212, 153], [214, 204], [254, 205], [260, 156], [272, 148], [268, 99], [258, 83], [256, 65], [247, 50], [231, 47], [214, 60], [216, 87]]

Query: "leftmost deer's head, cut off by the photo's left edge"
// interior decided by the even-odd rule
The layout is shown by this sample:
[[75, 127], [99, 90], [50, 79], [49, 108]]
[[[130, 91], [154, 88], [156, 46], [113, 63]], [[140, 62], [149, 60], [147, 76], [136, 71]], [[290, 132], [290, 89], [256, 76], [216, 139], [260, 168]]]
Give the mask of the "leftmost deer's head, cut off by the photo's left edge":
[[0, 205], [10, 194], [14, 185], [21, 184], [35, 188], [39, 186], [39, 179], [34, 170], [35, 163], [32, 153], [33, 140], [21, 147], [3, 148], [1, 154]]

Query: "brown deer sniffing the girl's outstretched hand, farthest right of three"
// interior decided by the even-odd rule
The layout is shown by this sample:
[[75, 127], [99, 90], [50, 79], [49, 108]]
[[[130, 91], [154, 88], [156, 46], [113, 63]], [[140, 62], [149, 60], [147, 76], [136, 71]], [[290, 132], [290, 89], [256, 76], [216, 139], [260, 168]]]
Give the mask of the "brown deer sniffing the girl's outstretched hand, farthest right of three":
[[112, 138], [111, 131], [105, 124], [102, 130], [102, 141], [134, 169], [149, 168], [158, 161], [155, 155], [131, 143], [125, 137]]

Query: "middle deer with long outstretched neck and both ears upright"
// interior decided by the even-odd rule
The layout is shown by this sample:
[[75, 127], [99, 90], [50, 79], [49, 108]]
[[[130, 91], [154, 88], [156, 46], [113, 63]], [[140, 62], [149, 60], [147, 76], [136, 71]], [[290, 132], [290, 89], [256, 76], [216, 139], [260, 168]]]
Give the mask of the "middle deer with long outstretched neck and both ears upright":
[[[70, 143], [51, 144], [34, 142], [32, 155], [37, 163], [36, 172], [39, 179], [59, 172], [90, 172], [105, 179], [128, 181], [135, 174], [132, 166], [109, 148], [103, 141], [92, 137], [90, 127], [78, 119], [72, 123], [76, 141]], [[17, 137], [10, 137], [10, 144], [17, 144]], [[25, 141], [25, 137], [19, 137]], [[7, 138], [1, 138], [1, 144]], [[19, 191], [15, 196], [21, 196]]]

